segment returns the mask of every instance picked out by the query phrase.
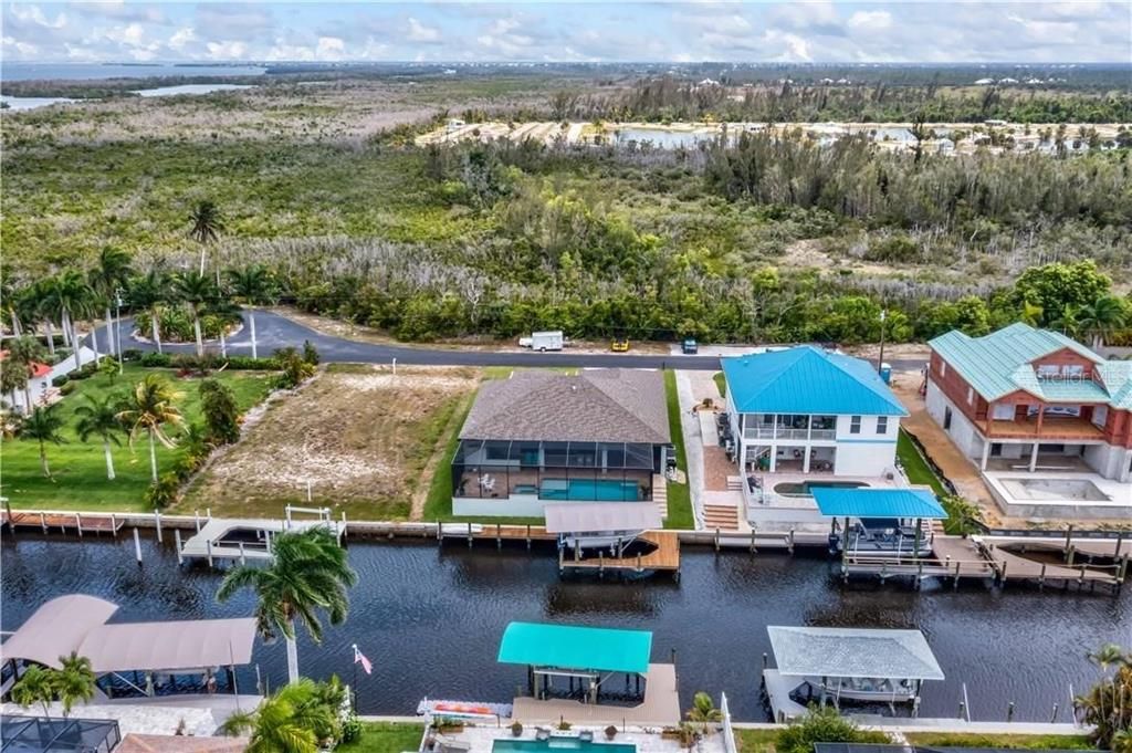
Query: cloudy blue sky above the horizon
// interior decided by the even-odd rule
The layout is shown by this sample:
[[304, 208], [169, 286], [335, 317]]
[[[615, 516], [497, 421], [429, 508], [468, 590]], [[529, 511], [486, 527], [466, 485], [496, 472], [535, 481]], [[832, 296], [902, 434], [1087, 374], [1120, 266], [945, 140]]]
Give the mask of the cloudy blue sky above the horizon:
[[0, 5], [9, 61], [1132, 61], [1130, 0]]

